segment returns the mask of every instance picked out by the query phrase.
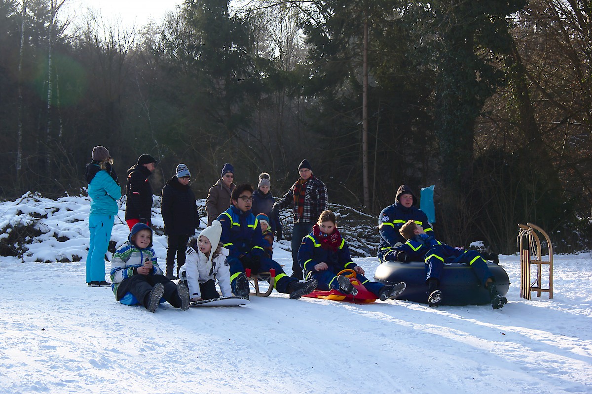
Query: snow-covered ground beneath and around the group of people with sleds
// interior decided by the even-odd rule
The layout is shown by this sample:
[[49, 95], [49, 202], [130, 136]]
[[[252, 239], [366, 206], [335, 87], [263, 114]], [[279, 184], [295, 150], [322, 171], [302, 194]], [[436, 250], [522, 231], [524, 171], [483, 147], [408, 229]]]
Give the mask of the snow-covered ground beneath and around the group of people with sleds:
[[[519, 257], [501, 256], [511, 286], [497, 311], [274, 292], [152, 314], [86, 286], [88, 202], [33, 200], [0, 203], [0, 229], [47, 215], [24, 259], [0, 256], [0, 393], [592, 393], [590, 253], [555, 256], [554, 299], [532, 301], [519, 297]], [[114, 239], [126, 236], [116, 223]], [[161, 265], [165, 246], [156, 237]], [[72, 255], [82, 261], [36, 262]], [[289, 252], [274, 257], [289, 272]], [[370, 277], [378, 265], [356, 263]]]

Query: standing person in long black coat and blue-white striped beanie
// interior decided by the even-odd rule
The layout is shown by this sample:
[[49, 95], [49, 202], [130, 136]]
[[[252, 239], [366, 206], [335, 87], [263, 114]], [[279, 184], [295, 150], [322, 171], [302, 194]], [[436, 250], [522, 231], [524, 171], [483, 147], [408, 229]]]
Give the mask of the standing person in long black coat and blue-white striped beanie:
[[[166, 252], [166, 277], [175, 279], [173, 265], [177, 256], [177, 276], [179, 268], [185, 264], [185, 249], [189, 237], [195, 234], [200, 226], [200, 216], [197, 213], [195, 194], [189, 187], [191, 173], [185, 164], [179, 164], [176, 175], [166, 181], [162, 188], [160, 210], [165, 222], [168, 250]], [[212, 248], [217, 245], [212, 245]]]

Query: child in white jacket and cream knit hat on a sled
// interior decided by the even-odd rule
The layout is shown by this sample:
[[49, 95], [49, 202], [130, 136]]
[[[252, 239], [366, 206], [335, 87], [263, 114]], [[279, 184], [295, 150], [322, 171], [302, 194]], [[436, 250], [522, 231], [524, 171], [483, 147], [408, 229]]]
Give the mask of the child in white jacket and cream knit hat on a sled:
[[[220, 298], [216, 291], [215, 280], [218, 279], [222, 297], [230, 297], [230, 268], [226, 263], [228, 249], [220, 243], [222, 226], [214, 220], [205, 227], [187, 248], [185, 265], [179, 269], [179, 278], [187, 281], [189, 301]], [[249, 292], [248, 284], [246, 292]]]

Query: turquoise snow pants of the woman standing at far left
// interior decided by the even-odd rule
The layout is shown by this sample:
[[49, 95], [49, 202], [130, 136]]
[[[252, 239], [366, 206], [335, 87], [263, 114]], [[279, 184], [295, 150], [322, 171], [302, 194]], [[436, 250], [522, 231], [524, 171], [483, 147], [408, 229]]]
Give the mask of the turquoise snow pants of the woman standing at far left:
[[91, 243], [86, 256], [86, 283], [105, 280], [105, 253], [111, 240], [114, 215], [95, 215], [88, 217]]

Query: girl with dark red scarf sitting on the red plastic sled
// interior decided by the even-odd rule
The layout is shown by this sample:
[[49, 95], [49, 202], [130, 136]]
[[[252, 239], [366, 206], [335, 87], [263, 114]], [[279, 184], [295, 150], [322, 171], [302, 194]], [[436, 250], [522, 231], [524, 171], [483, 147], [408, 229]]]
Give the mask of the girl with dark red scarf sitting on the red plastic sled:
[[304, 278], [316, 279], [317, 289], [337, 290], [344, 294], [356, 295], [358, 289], [345, 275], [337, 276], [343, 269], [353, 269], [356, 278], [381, 301], [395, 299], [405, 289], [404, 282], [384, 285], [371, 282], [364, 275], [361, 266], [352, 261], [348, 244], [342, 238], [336, 226], [336, 217], [332, 211], [323, 211], [313, 226], [313, 232], [305, 236], [298, 249], [298, 263], [304, 269]]

